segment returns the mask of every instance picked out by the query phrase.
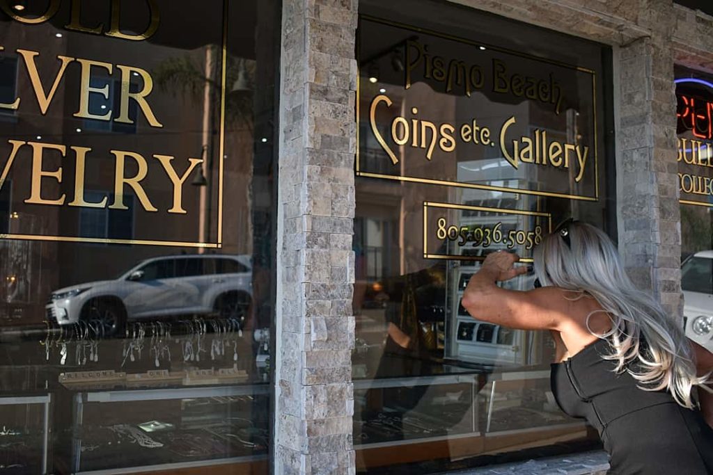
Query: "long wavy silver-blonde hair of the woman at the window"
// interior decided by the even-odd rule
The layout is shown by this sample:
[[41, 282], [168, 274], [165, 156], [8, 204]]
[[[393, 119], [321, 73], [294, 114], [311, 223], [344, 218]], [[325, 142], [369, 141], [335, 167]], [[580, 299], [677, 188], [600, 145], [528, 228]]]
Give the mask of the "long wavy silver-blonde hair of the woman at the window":
[[[609, 236], [580, 221], [566, 229], [569, 246], [557, 232], [545, 236], [535, 248], [540, 283], [572, 291], [573, 298], [595, 298], [603, 310], [587, 316], [587, 327], [593, 335], [610, 341], [613, 353], [604, 357], [617, 362], [616, 371], [629, 372], [643, 390], [667, 390], [678, 404], [693, 407], [692, 387], [705, 377], [696, 376], [693, 350], [682, 324], [634, 286]], [[589, 319], [602, 311], [612, 328], [595, 333]], [[630, 365], [634, 361], [639, 364]]]

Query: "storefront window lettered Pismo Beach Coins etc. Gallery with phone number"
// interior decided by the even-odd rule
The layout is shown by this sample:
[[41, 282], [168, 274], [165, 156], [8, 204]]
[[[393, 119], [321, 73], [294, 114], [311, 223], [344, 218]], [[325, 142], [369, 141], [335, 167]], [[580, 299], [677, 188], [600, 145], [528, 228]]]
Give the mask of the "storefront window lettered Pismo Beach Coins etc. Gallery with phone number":
[[489, 252], [531, 262], [563, 219], [615, 236], [610, 51], [431, 1], [359, 8], [357, 469], [595, 447], [550, 392], [550, 336], [475, 320], [461, 296]]

